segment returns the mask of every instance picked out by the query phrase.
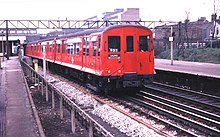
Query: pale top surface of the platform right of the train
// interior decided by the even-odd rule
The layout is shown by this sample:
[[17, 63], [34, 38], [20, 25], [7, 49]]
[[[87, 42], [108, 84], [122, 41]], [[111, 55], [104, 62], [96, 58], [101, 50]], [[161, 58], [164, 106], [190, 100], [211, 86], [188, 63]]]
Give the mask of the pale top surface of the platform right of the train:
[[220, 78], [220, 64], [155, 59], [155, 69]]

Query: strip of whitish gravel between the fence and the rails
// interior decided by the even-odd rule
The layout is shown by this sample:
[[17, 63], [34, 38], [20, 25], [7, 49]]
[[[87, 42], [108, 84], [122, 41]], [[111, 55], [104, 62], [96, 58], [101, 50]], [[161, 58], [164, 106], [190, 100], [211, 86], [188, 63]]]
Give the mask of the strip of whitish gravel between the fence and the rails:
[[72, 87], [66, 82], [62, 82], [52, 76], [46, 75], [46, 79], [53, 83], [53, 85], [66, 94], [71, 100], [81, 107], [92, 108], [92, 114], [102, 118], [103, 121], [110, 124], [112, 127], [117, 128], [127, 136], [139, 136], [139, 137], [160, 137], [161, 135], [149, 129], [143, 124], [131, 119], [121, 112], [116, 111], [106, 104], [101, 104], [91, 96], [84, 94], [75, 87]]

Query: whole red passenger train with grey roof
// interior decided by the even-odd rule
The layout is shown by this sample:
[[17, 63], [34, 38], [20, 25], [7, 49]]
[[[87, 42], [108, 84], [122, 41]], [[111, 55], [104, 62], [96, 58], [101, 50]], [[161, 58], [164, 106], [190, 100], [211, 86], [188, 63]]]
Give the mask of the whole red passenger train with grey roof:
[[139, 88], [154, 74], [152, 31], [140, 25], [115, 25], [32, 42], [26, 55], [43, 58], [55, 69], [89, 83], [95, 90]]

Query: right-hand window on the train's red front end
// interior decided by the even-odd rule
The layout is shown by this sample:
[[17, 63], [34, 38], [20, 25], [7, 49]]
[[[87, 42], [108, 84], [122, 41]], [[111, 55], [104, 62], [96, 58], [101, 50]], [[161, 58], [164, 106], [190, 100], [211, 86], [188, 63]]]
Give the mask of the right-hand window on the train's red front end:
[[150, 36], [139, 36], [139, 51], [147, 52], [150, 49]]

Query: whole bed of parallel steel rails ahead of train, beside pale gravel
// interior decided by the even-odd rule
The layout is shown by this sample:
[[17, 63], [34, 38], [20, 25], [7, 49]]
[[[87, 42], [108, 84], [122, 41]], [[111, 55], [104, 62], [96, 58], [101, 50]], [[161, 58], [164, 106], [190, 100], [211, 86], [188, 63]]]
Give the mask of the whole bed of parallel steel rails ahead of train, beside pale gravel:
[[[171, 89], [176, 91], [176, 96], [171, 96]], [[177, 90], [182, 93], [178, 94], [180, 91], [177, 92]], [[189, 93], [185, 92], [187, 91], [184, 89], [154, 83], [135, 96], [113, 98], [114, 101], [112, 102], [123, 104], [130, 110], [130, 113], [138, 112], [140, 114], [138, 117], [145, 116], [149, 121], [153, 120], [152, 126], [159, 127], [162, 132], [173, 136], [219, 136], [220, 118], [219, 109], [217, 109], [219, 97], [206, 96], [206, 94], [190, 90]], [[197, 100], [195, 98], [190, 99], [189, 96], [193, 96], [193, 94], [195, 96], [200, 95], [200, 97], [197, 97]], [[214, 105], [213, 102], [215, 102]], [[211, 108], [208, 107], [209, 110], [207, 110], [207, 104], [212, 106]]]

